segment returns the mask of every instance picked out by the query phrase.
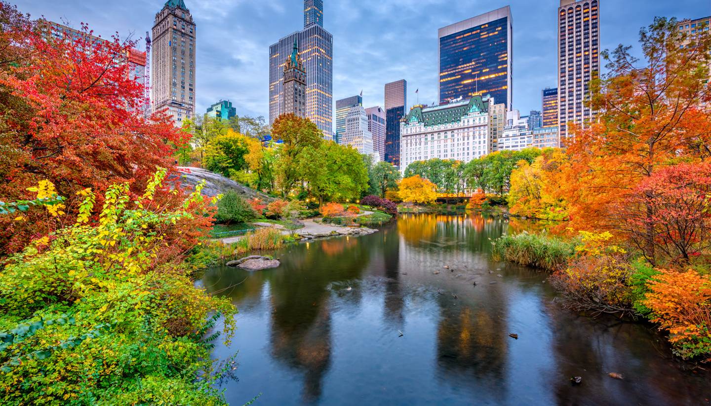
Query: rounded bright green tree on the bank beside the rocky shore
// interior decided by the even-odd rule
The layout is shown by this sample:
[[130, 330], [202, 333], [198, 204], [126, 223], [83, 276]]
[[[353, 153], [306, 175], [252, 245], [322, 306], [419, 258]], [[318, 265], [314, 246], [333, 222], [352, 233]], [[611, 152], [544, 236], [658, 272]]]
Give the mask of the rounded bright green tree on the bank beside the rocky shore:
[[368, 189], [368, 172], [358, 150], [333, 141], [308, 148], [301, 159], [301, 173], [309, 192], [324, 199], [358, 199]]

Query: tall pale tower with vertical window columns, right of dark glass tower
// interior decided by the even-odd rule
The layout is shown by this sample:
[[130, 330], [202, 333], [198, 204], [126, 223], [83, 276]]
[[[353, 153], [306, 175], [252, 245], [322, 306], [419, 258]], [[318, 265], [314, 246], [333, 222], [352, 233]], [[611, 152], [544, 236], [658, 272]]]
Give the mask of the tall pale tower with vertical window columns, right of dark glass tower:
[[560, 0], [558, 8], [558, 124], [560, 141], [570, 136], [573, 122], [589, 126], [590, 80], [599, 75], [598, 0]]

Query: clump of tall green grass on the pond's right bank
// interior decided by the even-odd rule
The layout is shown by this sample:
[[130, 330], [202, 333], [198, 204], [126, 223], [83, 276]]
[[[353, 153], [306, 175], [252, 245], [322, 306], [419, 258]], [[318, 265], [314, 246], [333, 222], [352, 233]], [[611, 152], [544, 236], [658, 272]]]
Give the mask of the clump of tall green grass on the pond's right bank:
[[501, 236], [491, 245], [494, 260], [509, 260], [520, 265], [554, 271], [565, 267], [575, 253], [576, 243], [524, 232]]

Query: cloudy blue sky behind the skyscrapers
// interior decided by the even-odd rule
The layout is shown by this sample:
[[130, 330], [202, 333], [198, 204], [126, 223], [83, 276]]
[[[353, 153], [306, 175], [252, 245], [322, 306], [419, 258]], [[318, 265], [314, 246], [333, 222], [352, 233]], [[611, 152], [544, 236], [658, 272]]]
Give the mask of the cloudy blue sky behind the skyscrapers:
[[[98, 35], [143, 38], [164, 0], [9, 0]], [[198, 111], [229, 99], [237, 114], [269, 115], [269, 45], [303, 25], [301, 0], [185, 0], [198, 25]], [[600, 0], [603, 48], [636, 45], [654, 16], [711, 15], [710, 0]], [[540, 91], [555, 87], [559, 0], [324, 0], [333, 34], [333, 97], [363, 90], [365, 106], [383, 105], [383, 85], [406, 79], [423, 104], [437, 100], [437, 29], [510, 5], [513, 14], [513, 107], [540, 110]], [[141, 47], [143, 44], [141, 43]], [[638, 46], [635, 47], [638, 50]]]

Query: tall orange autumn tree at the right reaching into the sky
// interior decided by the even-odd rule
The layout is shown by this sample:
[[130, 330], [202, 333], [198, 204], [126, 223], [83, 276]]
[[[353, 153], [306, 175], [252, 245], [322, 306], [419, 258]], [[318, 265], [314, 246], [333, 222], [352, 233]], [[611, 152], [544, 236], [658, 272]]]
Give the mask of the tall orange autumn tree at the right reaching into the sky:
[[[700, 32], [680, 46], [688, 39], [674, 19], [655, 18], [640, 31], [643, 62], [629, 46], [602, 53], [609, 73], [591, 84], [598, 122], [584, 130], [572, 126], [570, 163], [561, 173], [575, 228], [619, 227], [614, 211], [644, 178], [710, 156], [711, 39]], [[653, 233], [650, 228], [647, 241]]]

